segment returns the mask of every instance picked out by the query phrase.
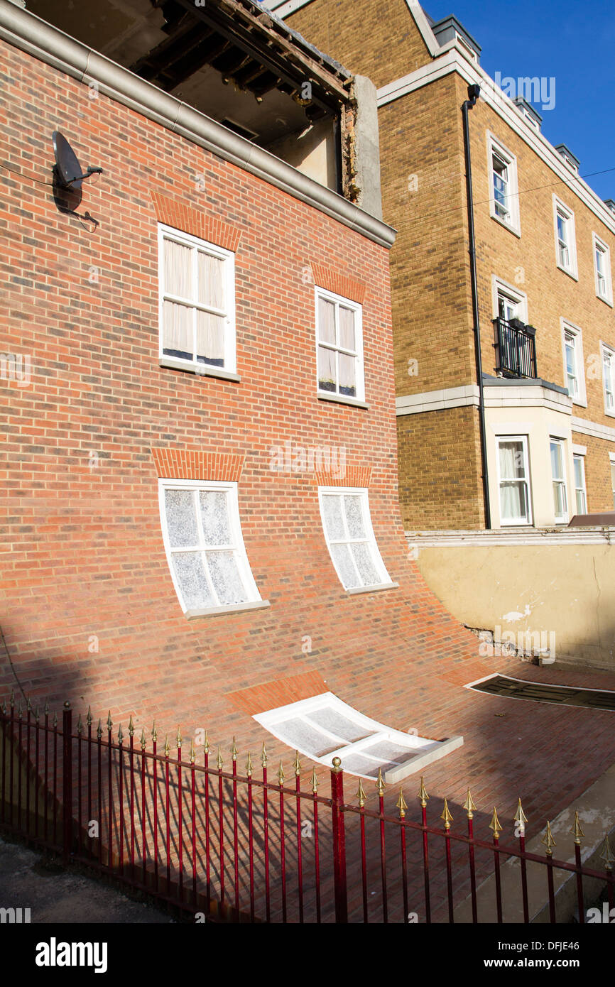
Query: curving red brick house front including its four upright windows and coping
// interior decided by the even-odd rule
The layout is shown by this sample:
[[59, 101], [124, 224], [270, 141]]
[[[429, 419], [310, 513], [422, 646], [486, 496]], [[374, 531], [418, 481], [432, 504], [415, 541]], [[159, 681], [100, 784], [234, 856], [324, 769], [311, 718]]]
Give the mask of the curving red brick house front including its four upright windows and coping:
[[[404, 543], [394, 231], [1, 12], [3, 688], [244, 750], [327, 691], [421, 731], [400, 675], [476, 645]], [[72, 211], [53, 131], [103, 169]]]

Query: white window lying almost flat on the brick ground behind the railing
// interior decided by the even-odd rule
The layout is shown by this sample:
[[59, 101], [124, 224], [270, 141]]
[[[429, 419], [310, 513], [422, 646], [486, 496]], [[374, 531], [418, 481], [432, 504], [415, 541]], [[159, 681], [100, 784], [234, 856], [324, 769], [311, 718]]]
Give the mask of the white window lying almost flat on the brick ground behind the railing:
[[390, 729], [357, 713], [332, 692], [268, 710], [254, 719], [292, 750], [313, 761], [331, 767], [334, 757], [339, 757], [344, 771], [361, 778], [377, 778], [380, 769], [389, 784], [423, 769], [463, 743], [460, 736], [429, 740]]

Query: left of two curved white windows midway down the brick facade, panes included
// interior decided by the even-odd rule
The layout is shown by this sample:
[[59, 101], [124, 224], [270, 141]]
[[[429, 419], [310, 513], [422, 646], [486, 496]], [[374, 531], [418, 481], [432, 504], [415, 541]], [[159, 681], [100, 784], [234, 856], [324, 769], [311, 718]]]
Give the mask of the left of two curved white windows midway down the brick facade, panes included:
[[182, 609], [198, 616], [261, 601], [244, 548], [237, 484], [161, 480], [160, 517]]

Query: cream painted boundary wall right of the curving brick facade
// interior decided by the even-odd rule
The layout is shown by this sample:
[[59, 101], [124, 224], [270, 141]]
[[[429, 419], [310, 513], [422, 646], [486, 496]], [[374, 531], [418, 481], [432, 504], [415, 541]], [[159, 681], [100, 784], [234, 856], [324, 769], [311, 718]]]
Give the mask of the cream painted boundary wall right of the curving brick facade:
[[420, 545], [415, 554], [468, 627], [533, 632], [547, 643], [554, 634], [556, 662], [615, 669], [615, 545]]

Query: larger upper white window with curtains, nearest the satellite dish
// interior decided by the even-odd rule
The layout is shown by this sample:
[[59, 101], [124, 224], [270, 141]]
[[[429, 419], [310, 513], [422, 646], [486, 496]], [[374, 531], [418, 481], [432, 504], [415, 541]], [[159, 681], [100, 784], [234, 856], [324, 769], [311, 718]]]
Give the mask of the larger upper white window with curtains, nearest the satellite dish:
[[235, 255], [162, 224], [158, 248], [161, 359], [235, 372]]

